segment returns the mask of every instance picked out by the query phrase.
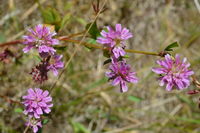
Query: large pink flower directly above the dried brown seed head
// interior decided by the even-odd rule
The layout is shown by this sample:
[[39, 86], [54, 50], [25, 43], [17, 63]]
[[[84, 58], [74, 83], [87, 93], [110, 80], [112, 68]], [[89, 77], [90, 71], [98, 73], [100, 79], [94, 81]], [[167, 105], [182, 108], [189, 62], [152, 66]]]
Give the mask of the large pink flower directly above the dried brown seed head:
[[53, 39], [56, 32], [52, 32], [51, 29], [42, 24], [36, 25], [34, 29], [28, 29], [29, 34], [23, 36], [23, 44], [27, 45], [23, 51], [29, 52], [32, 48], [37, 48], [39, 53], [55, 53], [56, 50], [52, 45], [59, 44], [59, 40]]

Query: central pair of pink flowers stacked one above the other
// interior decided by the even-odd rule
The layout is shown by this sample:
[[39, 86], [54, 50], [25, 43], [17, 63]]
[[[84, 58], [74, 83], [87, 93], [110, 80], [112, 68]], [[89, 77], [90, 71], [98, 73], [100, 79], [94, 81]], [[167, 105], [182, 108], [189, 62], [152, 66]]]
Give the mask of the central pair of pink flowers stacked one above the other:
[[132, 33], [127, 28], [122, 28], [121, 24], [116, 24], [115, 30], [110, 26], [107, 30], [101, 32], [102, 37], [97, 38], [97, 42], [103, 44], [110, 53], [111, 65], [109, 67], [111, 72], [106, 72], [106, 76], [112, 81], [112, 85], [120, 85], [120, 91], [128, 91], [126, 82], [137, 83], [138, 78], [135, 72], [131, 72], [131, 67], [126, 64], [124, 59], [120, 59], [126, 55], [125, 41], [133, 37]]

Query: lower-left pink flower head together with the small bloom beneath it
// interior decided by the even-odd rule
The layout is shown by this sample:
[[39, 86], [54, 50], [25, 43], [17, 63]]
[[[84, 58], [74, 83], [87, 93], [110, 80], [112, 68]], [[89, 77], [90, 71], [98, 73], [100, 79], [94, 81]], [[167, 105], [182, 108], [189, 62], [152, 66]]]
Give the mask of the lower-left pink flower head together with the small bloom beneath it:
[[25, 106], [24, 114], [28, 115], [29, 120], [27, 126], [33, 128], [34, 133], [38, 131], [38, 127], [42, 127], [41, 115], [51, 112], [52, 97], [49, 96], [47, 90], [43, 91], [40, 88], [28, 89], [28, 94], [22, 97]]

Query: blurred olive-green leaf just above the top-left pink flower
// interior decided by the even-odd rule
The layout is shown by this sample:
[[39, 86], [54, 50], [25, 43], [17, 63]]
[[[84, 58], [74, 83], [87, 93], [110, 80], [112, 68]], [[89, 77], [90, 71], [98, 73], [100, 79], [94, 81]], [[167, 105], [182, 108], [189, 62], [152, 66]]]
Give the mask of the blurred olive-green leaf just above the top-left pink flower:
[[45, 8], [41, 10], [44, 23], [55, 25], [55, 30], [58, 31], [61, 27], [61, 16], [55, 8]]

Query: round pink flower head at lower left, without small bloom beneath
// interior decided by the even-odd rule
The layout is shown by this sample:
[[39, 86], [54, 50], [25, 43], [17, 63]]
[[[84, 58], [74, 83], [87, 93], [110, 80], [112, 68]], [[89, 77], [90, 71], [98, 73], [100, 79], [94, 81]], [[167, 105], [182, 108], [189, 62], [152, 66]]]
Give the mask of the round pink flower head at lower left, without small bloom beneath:
[[25, 106], [24, 114], [38, 119], [40, 115], [51, 112], [52, 97], [48, 95], [47, 90], [43, 91], [40, 88], [28, 89], [28, 94], [22, 97], [24, 99], [22, 103]]

